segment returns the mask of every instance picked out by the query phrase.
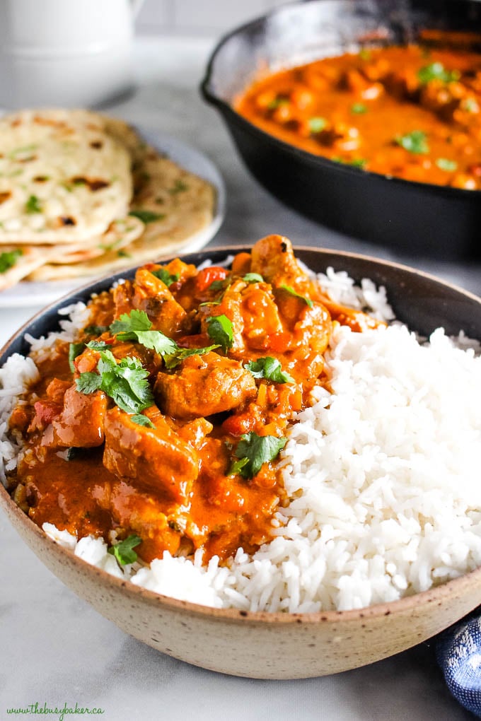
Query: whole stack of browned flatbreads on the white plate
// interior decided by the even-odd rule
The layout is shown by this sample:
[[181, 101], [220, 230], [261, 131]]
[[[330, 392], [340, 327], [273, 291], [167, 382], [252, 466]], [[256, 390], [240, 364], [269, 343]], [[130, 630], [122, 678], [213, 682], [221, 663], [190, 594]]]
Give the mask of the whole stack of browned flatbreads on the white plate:
[[122, 120], [87, 110], [0, 119], [0, 290], [175, 253], [211, 223], [213, 187]]

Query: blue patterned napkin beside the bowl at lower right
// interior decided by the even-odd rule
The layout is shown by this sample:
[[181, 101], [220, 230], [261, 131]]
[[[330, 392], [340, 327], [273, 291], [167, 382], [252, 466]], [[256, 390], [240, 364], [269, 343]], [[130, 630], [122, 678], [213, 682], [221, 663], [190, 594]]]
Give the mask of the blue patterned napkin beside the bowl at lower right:
[[481, 609], [438, 637], [436, 657], [451, 694], [481, 718]]

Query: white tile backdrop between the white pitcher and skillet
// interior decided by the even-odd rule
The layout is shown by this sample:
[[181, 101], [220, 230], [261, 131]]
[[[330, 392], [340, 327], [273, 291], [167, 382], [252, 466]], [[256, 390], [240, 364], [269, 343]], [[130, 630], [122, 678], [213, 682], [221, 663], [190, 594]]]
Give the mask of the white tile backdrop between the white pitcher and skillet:
[[221, 35], [286, 0], [144, 0], [136, 31], [149, 35]]

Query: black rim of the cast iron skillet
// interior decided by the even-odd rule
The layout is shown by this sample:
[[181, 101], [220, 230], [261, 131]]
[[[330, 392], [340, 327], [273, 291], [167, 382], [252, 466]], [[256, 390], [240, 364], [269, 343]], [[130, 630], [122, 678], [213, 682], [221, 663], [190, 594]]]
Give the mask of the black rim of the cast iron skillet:
[[[371, 170], [363, 170], [361, 168], [356, 168], [352, 165], [337, 163], [328, 158], [325, 158], [325, 156], [315, 155], [314, 153], [309, 153], [308, 151], [302, 150], [301, 148], [297, 148], [294, 144], [286, 143], [286, 141], [282, 141], [280, 138], [277, 138], [276, 136], [271, 135], [267, 131], [262, 130], [262, 128], [259, 128], [258, 125], [251, 123], [250, 120], [247, 120], [247, 118], [244, 118], [243, 115], [240, 115], [237, 110], [234, 110], [234, 107], [231, 105], [231, 103], [226, 102], [214, 92], [213, 88], [211, 87], [211, 79], [213, 76], [214, 65], [216, 63], [216, 56], [220, 53], [224, 45], [229, 42], [231, 37], [234, 37], [235, 35], [242, 35], [243, 32], [250, 30], [256, 25], [260, 25], [265, 20], [268, 20], [271, 17], [275, 17], [275, 15], [277, 14], [281, 14], [286, 9], [301, 5], [320, 4], [323, 1], [324, 0], [304, 0], [304, 2], [300, 2], [299, 0], [294, 0], [292, 2], [288, 2], [286, 4], [275, 7], [270, 11], [266, 12], [265, 14], [259, 15], [248, 22], [244, 22], [242, 25], [238, 25], [237, 27], [234, 27], [233, 30], [229, 30], [229, 32], [221, 35], [215, 47], [211, 51], [211, 55], [209, 56], [207, 61], [206, 70], [204, 71], [203, 79], [200, 81], [200, 92], [206, 102], [208, 102], [210, 105], [213, 105], [214, 107], [217, 107], [219, 111], [229, 117], [232, 121], [234, 121], [234, 123], [239, 125], [240, 128], [242, 128], [243, 130], [247, 130], [252, 136], [262, 138], [263, 143], [270, 143], [271, 145], [277, 147], [278, 150], [281, 150], [288, 155], [290, 154], [291, 156], [294, 156], [301, 162], [309, 163], [321, 169], [324, 168], [329, 171], [335, 170], [337, 172], [340, 172], [341, 174], [347, 173], [348, 175], [354, 177], [356, 177], [356, 175], [358, 177], [366, 176], [373, 180], [376, 180], [377, 182], [390, 182], [393, 185], [400, 185], [400, 187], [405, 187], [406, 189], [412, 188], [413, 190], [420, 190], [424, 191], [425, 193], [433, 193], [440, 196], [446, 195], [449, 198], [458, 197], [463, 198], [464, 200], [469, 200], [469, 198], [472, 198], [472, 200], [476, 200], [476, 202], [479, 203], [481, 199], [481, 190], [466, 190], [465, 188], [451, 187], [449, 185], [436, 185], [436, 183], [420, 182], [418, 180], [405, 180], [404, 178], [400, 178], [395, 175], [376, 173]], [[456, 0], [451, 0], [451, 2], [453, 3], [455, 1]]]

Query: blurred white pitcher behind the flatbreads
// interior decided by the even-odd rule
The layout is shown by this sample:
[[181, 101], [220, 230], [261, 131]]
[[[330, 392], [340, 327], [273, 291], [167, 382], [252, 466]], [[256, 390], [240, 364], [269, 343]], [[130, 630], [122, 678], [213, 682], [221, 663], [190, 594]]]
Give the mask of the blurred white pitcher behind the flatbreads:
[[0, 0], [0, 107], [91, 107], [133, 87], [142, 0]]

